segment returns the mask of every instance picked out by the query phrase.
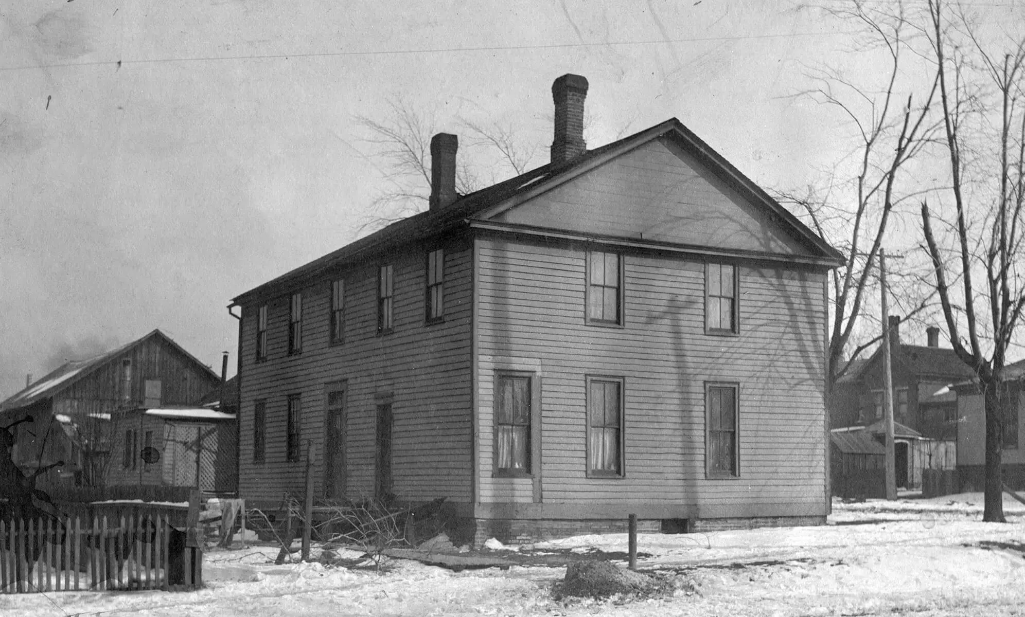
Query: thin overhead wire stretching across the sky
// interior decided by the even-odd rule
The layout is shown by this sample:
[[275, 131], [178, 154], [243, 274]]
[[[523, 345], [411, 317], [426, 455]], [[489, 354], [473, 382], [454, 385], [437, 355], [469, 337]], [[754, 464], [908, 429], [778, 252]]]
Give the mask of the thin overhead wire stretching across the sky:
[[823, 32], [791, 32], [787, 34], [760, 34], [748, 36], [695, 37], [688, 39], [652, 39], [646, 41], [606, 41], [601, 43], [561, 43], [547, 45], [491, 45], [487, 47], [440, 47], [423, 49], [370, 49], [364, 51], [319, 51], [305, 53], [268, 53], [253, 55], [212, 55], [196, 57], [162, 57], [142, 59], [92, 60], [85, 63], [54, 63], [52, 65], [25, 65], [17, 67], [0, 67], [0, 71], [31, 71], [34, 69], [61, 69], [67, 67], [95, 67], [102, 65], [155, 65], [166, 63], [205, 63], [218, 60], [250, 60], [250, 59], [281, 59], [299, 57], [330, 57], [345, 55], [403, 55], [426, 53], [467, 53], [479, 51], [518, 51], [530, 49], [565, 49], [572, 47], [617, 47], [627, 45], [664, 45], [666, 43], [699, 43], [704, 41], [744, 41], [755, 39], [776, 39], [795, 37], [821, 37], [857, 34], [859, 31], [823, 31]]

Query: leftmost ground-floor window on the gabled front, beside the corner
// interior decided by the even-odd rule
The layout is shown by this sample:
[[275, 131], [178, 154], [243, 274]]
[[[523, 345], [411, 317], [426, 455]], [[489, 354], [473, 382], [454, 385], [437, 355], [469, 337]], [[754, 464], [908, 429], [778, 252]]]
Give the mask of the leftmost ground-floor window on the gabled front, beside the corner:
[[530, 377], [495, 377], [495, 469], [499, 475], [530, 474]]

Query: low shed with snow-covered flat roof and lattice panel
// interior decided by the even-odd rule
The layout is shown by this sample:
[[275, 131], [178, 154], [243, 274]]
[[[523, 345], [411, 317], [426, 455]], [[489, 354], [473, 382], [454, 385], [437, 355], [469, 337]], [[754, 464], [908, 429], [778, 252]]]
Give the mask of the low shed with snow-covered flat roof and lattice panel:
[[208, 407], [158, 407], [114, 414], [108, 486], [236, 490], [235, 414]]

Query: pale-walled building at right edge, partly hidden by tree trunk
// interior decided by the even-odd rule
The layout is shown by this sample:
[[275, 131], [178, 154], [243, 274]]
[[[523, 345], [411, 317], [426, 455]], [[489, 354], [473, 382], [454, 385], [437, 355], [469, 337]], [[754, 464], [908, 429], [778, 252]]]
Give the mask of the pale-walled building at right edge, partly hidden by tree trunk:
[[[1025, 443], [1022, 421], [1025, 413], [1022, 380], [1025, 360], [1003, 369], [1008, 387], [1004, 410], [1002, 469], [1003, 483], [1014, 490], [1025, 490]], [[966, 381], [953, 386], [957, 392], [957, 477], [962, 491], [984, 488], [986, 463], [986, 410], [976, 383]]]

